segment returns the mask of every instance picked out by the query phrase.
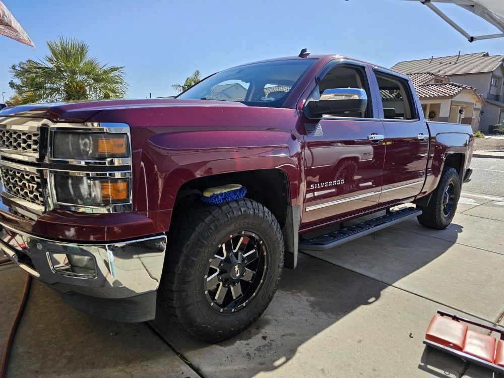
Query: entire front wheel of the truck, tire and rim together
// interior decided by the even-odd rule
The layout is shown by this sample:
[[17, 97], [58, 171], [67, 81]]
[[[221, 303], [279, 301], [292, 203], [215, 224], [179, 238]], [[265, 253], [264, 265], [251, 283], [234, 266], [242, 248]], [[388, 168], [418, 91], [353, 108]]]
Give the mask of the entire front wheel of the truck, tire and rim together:
[[282, 273], [280, 226], [248, 199], [201, 206], [170, 230], [158, 290], [173, 321], [200, 340], [228, 339], [253, 324], [275, 293]]

